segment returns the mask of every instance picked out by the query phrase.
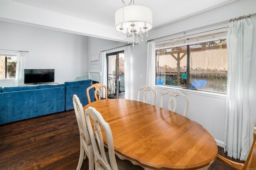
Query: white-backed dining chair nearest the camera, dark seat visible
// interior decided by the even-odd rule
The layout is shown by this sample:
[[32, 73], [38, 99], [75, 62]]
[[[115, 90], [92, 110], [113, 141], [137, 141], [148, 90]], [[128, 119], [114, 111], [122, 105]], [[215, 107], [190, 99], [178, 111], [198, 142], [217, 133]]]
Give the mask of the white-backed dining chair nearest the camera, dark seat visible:
[[[94, 132], [92, 130], [90, 118], [93, 120]], [[116, 157], [110, 126], [94, 107], [88, 107], [85, 110], [85, 119], [92, 142], [96, 170], [144, 170], [141, 166], [134, 165], [129, 160], [121, 160]], [[105, 152], [104, 150], [103, 136], [100, 127], [103, 128], [106, 134], [108, 152]], [[98, 147], [95, 138], [97, 140]]]

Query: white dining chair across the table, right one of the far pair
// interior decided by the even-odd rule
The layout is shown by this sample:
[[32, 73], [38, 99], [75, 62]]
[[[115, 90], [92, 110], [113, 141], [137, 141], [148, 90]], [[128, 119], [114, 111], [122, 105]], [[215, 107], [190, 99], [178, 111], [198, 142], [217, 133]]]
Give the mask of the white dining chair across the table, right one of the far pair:
[[[160, 94], [160, 107], [163, 107], [163, 96], [166, 95], [166, 94], [169, 94], [170, 95], [170, 98], [169, 98], [169, 101], [168, 101], [168, 110], [170, 111], [176, 111], [176, 108], [177, 108], [177, 96], [181, 96], [182, 98], [185, 99], [185, 108], [184, 108], [184, 111], [183, 111], [183, 116], [186, 117], [187, 113], [188, 113], [188, 106], [189, 106], [189, 99], [188, 99], [188, 96], [185, 96], [182, 92], [178, 91], [178, 90], [175, 90], [175, 89], [170, 89], [170, 90], [166, 90], [164, 92], [162, 92]], [[172, 109], [172, 102], [174, 103], [174, 107]]]

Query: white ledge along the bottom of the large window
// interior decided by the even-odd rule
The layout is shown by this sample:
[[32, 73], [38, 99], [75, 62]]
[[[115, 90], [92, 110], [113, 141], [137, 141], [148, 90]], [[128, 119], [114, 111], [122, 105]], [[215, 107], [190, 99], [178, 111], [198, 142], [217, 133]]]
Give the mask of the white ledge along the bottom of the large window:
[[212, 98], [226, 99], [226, 97], [227, 97], [226, 94], [214, 93], [214, 92], [205, 92], [205, 91], [200, 91], [200, 90], [191, 90], [191, 89], [178, 88], [178, 87], [173, 87], [173, 86], [155, 85], [155, 88], [163, 89], [163, 90], [175, 89], [175, 90], [179, 90], [181, 92], [188, 93], [188, 94], [196, 94], [196, 95], [208, 96], [208, 97], [212, 97]]

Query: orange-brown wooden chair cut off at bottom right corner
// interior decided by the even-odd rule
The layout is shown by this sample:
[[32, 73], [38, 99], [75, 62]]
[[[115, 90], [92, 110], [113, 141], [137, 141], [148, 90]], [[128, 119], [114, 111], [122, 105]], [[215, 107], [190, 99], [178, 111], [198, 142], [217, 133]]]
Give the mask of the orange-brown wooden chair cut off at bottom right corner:
[[255, 170], [256, 169], [256, 124], [254, 127], [254, 140], [252, 143], [252, 147], [250, 149], [250, 152], [248, 154], [248, 157], [244, 164], [234, 162], [232, 160], [228, 160], [224, 158], [223, 156], [217, 155], [217, 159], [221, 160], [225, 164], [228, 164], [229, 166], [232, 166], [233, 168], [236, 168], [238, 170]]

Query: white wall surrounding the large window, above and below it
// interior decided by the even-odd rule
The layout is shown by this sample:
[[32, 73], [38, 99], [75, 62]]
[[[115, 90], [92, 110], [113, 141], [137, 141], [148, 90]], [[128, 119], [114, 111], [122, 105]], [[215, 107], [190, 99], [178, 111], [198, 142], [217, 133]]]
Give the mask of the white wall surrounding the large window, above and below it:
[[[171, 35], [181, 31], [186, 31], [193, 28], [202, 27], [212, 23], [217, 23], [231, 18], [244, 16], [256, 12], [255, 0], [240, 0], [234, 3], [222, 6], [189, 18], [185, 18], [156, 29], [152, 29], [148, 32], [149, 37], [147, 39], [154, 39], [166, 35]], [[154, 14], [153, 14], [154, 15]], [[251, 61], [251, 76], [256, 73], [256, 17], [251, 18], [254, 24], [254, 40], [252, 45], [252, 61]], [[154, 24], [154, 23], [153, 23]], [[228, 22], [222, 25], [216, 25], [193, 32], [186, 33], [186, 35], [192, 33], [200, 33], [216, 28], [228, 26]], [[184, 34], [183, 34], [184, 35]], [[182, 34], [175, 37], [183, 36]], [[167, 37], [166, 39], [172, 39], [173, 37]], [[163, 39], [161, 39], [163, 40]], [[160, 40], [159, 40], [160, 41]], [[155, 41], [157, 42], [157, 41]], [[133, 47], [133, 76], [134, 76], [134, 89], [146, 84], [146, 43], [140, 43]], [[139, 74], [143, 74], [142, 78], [139, 78]], [[256, 122], [256, 84], [255, 78], [250, 79], [250, 143], [252, 143], [252, 129]], [[159, 101], [159, 95], [166, 88], [160, 86], [156, 87]], [[192, 90], [182, 90], [185, 95], [190, 98], [190, 107], [188, 110], [188, 118], [197, 121], [208, 130], [211, 135], [219, 141], [218, 145], [223, 146], [225, 135], [225, 111], [226, 111], [226, 97], [225, 95], [212, 95], [211, 93], [198, 94]], [[133, 92], [133, 99], [136, 100], [136, 91]], [[158, 106], [159, 102], [156, 103]], [[164, 106], [167, 108], [167, 106]], [[178, 108], [178, 112], [181, 111], [181, 107]]]

